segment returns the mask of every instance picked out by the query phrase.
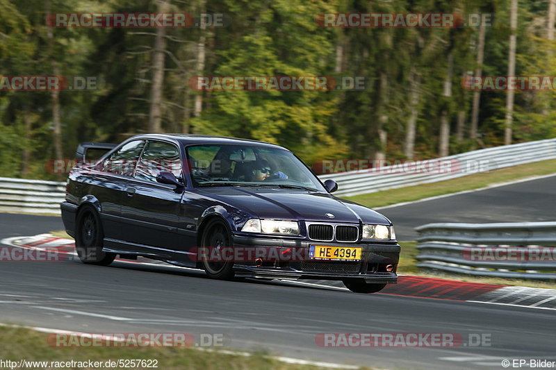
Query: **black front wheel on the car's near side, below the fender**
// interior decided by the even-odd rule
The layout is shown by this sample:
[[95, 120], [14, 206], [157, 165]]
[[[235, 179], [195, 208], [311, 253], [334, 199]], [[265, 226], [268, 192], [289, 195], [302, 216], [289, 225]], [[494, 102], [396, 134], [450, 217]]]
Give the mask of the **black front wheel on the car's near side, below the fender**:
[[[219, 219], [208, 221], [204, 228], [202, 237], [202, 246], [208, 247], [227, 247], [231, 246], [231, 233], [229, 228]], [[202, 257], [203, 269], [206, 276], [219, 280], [234, 279], [234, 261], [215, 262], [206, 259], [206, 255]]]

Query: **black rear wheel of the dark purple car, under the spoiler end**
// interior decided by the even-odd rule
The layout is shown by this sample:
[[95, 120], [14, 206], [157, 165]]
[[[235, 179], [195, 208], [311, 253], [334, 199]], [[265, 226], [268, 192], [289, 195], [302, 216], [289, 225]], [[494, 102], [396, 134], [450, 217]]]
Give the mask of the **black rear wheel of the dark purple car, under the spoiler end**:
[[81, 262], [108, 266], [116, 258], [115, 253], [102, 251], [104, 232], [97, 210], [84, 205], [76, 219], [75, 249]]

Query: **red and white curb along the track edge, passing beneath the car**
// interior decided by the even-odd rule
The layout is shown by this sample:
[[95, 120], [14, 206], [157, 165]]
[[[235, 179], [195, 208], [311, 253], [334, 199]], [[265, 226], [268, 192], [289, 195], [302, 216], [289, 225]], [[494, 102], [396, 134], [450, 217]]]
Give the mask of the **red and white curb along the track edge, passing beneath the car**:
[[[15, 246], [37, 251], [51, 251], [69, 253], [76, 258], [75, 243], [72, 239], [55, 237], [51, 234], [40, 234], [30, 237], [8, 237], [0, 240], [0, 244]], [[120, 260], [120, 262], [176, 267], [166, 262], [149, 260], [139, 257], [137, 261]], [[190, 269], [188, 269], [190, 270]], [[284, 283], [306, 286], [326, 287], [345, 290], [343, 283], [329, 280], [295, 281], [284, 280]], [[439, 278], [424, 278], [421, 276], [400, 276], [398, 284], [387, 285], [379, 294], [398, 296], [414, 296], [420, 298], [448, 299], [452, 301], [467, 301], [493, 305], [512, 305], [540, 310], [556, 310], [556, 289], [541, 289], [532, 287], [514, 287], [494, 284], [466, 283]]]

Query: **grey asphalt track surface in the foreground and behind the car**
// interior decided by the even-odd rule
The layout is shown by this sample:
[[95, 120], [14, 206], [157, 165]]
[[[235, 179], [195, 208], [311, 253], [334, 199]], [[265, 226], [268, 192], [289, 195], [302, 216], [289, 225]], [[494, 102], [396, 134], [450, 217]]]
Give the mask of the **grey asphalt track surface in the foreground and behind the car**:
[[[485, 190], [432, 205], [415, 203], [404, 206], [400, 219], [395, 212], [402, 207], [383, 212], [405, 228], [417, 220], [546, 221], [553, 215], [554, 185], [556, 178], [547, 178], [499, 187], [494, 194]], [[482, 210], [474, 209], [468, 196]], [[505, 218], [493, 219], [496, 215]], [[0, 239], [60, 228], [58, 217], [0, 214]], [[186, 332], [196, 339], [201, 333], [223, 334], [227, 348], [387, 369], [502, 369], [505, 359], [556, 361], [554, 310], [218, 281], [200, 271], [123, 262], [111, 267], [2, 262], [0, 321], [87, 333]], [[490, 346], [322, 348], [315, 342], [318, 333], [457, 333], [464, 340], [486, 335]]]

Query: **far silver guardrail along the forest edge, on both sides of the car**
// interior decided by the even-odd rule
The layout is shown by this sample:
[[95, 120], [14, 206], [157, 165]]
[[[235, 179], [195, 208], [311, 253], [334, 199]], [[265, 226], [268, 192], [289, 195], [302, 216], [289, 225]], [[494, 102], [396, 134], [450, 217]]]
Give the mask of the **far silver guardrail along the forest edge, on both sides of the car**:
[[[424, 183], [458, 178], [480, 171], [491, 171], [503, 167], [523, 165], [556, 158], [556, 139], [524, 142], [494, 148], [469, 151], [443, 158], [434, 162], [445, 163], [436, 172], [412, 173], [396, 165], [322, 175], [324, 182], [332, 178], [338, 183], [337, 196], [352, 196], [378, 192]], [[22, 180], [0, 177], [0, 211], [60, 213], [59, 203], [63, 201], [65, 183], [43, 180]]]

